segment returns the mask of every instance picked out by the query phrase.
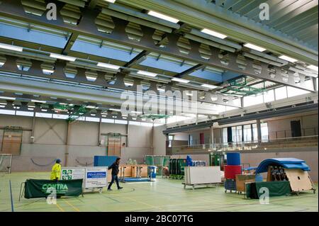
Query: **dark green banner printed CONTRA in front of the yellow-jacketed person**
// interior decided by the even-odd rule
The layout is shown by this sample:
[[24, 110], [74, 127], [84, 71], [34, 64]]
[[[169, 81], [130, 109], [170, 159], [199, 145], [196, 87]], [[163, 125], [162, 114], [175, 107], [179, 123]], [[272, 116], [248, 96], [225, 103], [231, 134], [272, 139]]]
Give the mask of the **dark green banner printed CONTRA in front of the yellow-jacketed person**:
[[46, 198], [51, 193], [57, 196], [79, 196], [82, 194], [83, 179], [51, 181], [28, 179], [25, 182], [24, 198]]

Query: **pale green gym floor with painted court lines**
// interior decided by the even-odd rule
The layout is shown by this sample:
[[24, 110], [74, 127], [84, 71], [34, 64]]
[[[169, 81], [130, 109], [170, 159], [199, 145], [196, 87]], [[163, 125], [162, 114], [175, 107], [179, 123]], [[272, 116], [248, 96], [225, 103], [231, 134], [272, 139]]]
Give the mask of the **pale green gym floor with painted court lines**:
[[245, 199], [237, 193], [225, 193], [223, 186], [211, 188], [189, 187], [184, 190], [183, 180], [157, 178], [156, 182], [122, 183], [121, 191], [87, 193], [84, 197], [61, 198], [57, 205], [49, 205], [45, 198], [18, 201], [21, 182], [26, 179], [47, 179], [49, 172], [19, 172], [0, 174], [0, 211], [11, 211], [9, 180], [13, 192], [14, 211], [86, 212], [86, 211], [315, 211], [318, 212], [318, 193], [313, 191], [299, 196], [271, 197], [269, 205], [259, 200]]

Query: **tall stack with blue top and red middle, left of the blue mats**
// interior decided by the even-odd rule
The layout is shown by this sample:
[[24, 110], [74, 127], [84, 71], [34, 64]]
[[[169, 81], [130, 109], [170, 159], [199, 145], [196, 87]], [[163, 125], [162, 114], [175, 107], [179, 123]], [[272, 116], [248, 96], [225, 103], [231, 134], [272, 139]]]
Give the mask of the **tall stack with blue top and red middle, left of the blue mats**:
[[225, 173], [225, 192], [227, 190], [236, 191], [236, 174], [242, 174], [242, 166], [240, 165], [240, 153], [228, 153], [227, 165], [224, 167]]

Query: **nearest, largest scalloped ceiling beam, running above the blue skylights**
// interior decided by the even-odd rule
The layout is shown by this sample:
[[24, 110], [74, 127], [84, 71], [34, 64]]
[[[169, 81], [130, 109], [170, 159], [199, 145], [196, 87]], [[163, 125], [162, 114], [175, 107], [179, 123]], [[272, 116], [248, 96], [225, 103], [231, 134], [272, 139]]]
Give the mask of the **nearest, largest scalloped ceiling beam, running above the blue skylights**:
[[[0, 15], [9, 18], [15, 18], [21, 21], [27, 21], [28, 23], [35, 23], [40, 26], [47, 26], [49, 28], [63, 30], [77, 35], [84, 35], [121, 45], [128, 45], [130, 47], [135, 47], [145, 51], [157, 52], [159, 54], [177, 57], [190, 62], [196, 62], [197, 64], [218, 67], [220, 69], [230, 70], [238, 74], [265, 79], [279, 84], [305, 89], [307, 91], [315, 91], [313, 85], [314, 82], [305, 82], [307, 79], [314, 80], [313, 77], [306, 77], [306, 75], [302, 73], [298, 73], [296, 75], [295, 72], [291, 71], [290, 69], [283, 69], [265, 62], [258, 62], [257, 60], [250, 59], [249, 57], [245, 57], [245, 65], [238, 64], [237, 59], [240, 56], [240, 53], [238, 52], [229, 52], [227, 50], [220, 50], [217, 47], [209, 46], [211, 50], [211, 57], [209, 60], [206, 60], [201, 57], [201, 53], [199, 52], [201, 43], [189, 39], [191, 50], [189, 50], [188, 54], [182, 53], [177, 45], [180, 35], [176, 33], [164, 33], [164, 37], [167, 39], [167, 45], [162, 47], [158, 46], [155, 40], [152, 38], [152, 35], [155, 33], [155, 28], [140, 25], [143, 35], [138, 42], [128, 38], [128, 35], [125, 33], [125, 27], [128, 26], [129, 21], [125, 21], [113, 16], [111, 16], [111, 18], [115, 27], [112, 33], [101, 33], [96, 27], [95, 23], [97, 16], [99, 16], [99, 13], [101, 13], [101, 11], [98, 9], [91, 10], [80, 8], [79, 10], [81, 11], [82, 18], [78, 25], [69, 25], [63, 21], [63, 18], [60, 14], [60, 10], [64, 5], [65, 4], [62, 2], [57, 2], [58, 12], [56, 21], [48, 21], [46, 18], [46, 13], [43, 13], [43, 16], [34, 16], [26, 13], [20, 0], [1, 1]], [[220, 53], [223, 54], [223, 58], [219, 57]], [[55, 74], [57, 73], [55, 72]]]

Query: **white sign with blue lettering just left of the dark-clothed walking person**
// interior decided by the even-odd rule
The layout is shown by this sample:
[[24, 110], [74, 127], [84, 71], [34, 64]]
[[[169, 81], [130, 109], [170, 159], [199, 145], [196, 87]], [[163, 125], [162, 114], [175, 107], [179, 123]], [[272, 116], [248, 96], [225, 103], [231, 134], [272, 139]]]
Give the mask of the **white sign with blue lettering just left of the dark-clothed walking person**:
[[108, 169], [105, 168], [86, 168], [85, 188], [102, 188], [108, 185]]

